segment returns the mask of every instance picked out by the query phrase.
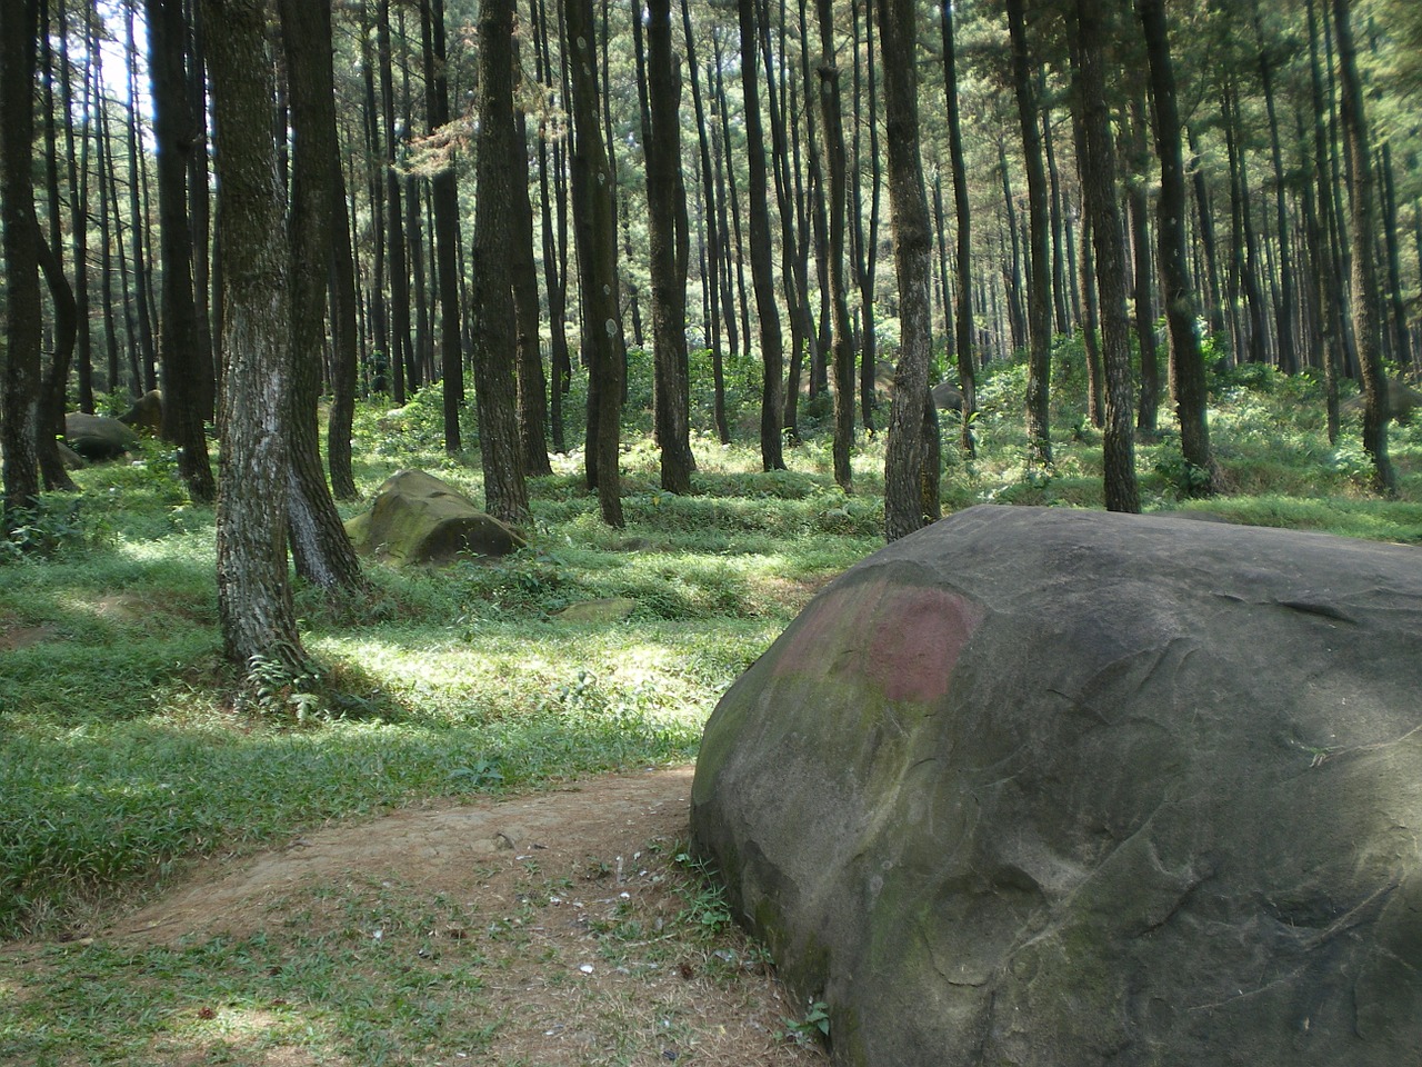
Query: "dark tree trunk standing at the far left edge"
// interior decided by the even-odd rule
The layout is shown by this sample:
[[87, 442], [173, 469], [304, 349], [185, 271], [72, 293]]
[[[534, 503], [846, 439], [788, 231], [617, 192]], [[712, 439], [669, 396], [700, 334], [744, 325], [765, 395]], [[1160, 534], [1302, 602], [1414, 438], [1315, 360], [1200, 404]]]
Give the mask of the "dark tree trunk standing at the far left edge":
[[6, 266], [6, 359], [0, 396], [3, 525], [10, 535], [40, 502], [40, 223], [34, 216], [34, 73], [37, 0], [0, 4], [0, 221]]

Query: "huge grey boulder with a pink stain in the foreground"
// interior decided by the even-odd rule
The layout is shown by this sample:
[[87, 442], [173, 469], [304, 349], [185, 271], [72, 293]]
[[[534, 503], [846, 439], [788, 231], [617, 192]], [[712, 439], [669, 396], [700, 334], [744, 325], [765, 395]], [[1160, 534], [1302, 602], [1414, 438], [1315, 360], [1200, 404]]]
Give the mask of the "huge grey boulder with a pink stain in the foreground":
[[1422, 552], [981, 506], [711, 716], [695, 851], [838, 1064], [1422, 1049]]

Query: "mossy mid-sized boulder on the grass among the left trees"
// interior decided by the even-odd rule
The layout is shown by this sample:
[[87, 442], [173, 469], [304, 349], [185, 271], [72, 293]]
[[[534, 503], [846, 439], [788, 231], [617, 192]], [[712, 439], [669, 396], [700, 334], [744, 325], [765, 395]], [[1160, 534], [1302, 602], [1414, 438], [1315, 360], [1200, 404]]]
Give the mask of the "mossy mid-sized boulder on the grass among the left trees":
[[392, 563], [448, 563], [456, 556], [506, 556], [528, 542], [483, 514], [454, 487], [424, 471], [397, 471], [367, 511], [346, 522], [363, 555]]

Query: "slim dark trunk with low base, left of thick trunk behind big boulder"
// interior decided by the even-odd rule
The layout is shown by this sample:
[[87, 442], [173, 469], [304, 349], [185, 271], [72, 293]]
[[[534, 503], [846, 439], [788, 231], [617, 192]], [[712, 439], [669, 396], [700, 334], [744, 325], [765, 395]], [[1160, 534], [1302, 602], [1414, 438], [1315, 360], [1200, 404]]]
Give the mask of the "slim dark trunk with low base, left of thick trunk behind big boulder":
[[849, 492], [855, 444], [855, 336], [849, 322], [849, 276], [845, 262], [849, 178], [845, 166], [845, 118], [835, 63], [835, 13], [832, 0], [816, 0], [819, 18], [819, 114], [825, 131], [823, 158], [829, 166], [829, 303], [830, 366], [835, 381], [835, 481]]

